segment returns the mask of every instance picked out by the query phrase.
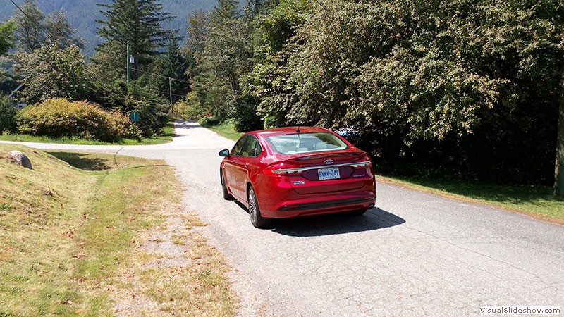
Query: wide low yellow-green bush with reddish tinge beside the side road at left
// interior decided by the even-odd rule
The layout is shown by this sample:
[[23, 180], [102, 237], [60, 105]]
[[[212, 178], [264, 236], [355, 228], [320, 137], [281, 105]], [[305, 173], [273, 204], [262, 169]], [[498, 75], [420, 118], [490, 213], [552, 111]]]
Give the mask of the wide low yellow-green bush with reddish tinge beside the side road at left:
[[128, 133], [130, 120], [86, 101], [48, 99], [18, 113], [18, 130], [49, 137], [82, 137], [114, 142]]

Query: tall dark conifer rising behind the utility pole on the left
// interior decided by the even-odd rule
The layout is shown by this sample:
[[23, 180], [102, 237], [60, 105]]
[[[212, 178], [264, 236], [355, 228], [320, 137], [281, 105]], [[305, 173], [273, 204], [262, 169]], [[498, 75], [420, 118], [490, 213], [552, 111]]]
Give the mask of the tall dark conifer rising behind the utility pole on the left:
[[114, 0], [112, 4], [98, 5], [106, 9], [101, 11], [105, 20], [97, 20], [102, 25], [97, 33], [106, 42], [100, 44], [97, 51], [109, 58], [108, 67], [123, 69], [125, 73], [125, 46], [129, 43], [130, 56], [135, 58], [134, 79], [139, 77], [140, 71], [150, 70], [159, 49], [176, 38], [176, 31], [161, 27], [161, 23], [174, 17], [161, 11], [159, 0]]

